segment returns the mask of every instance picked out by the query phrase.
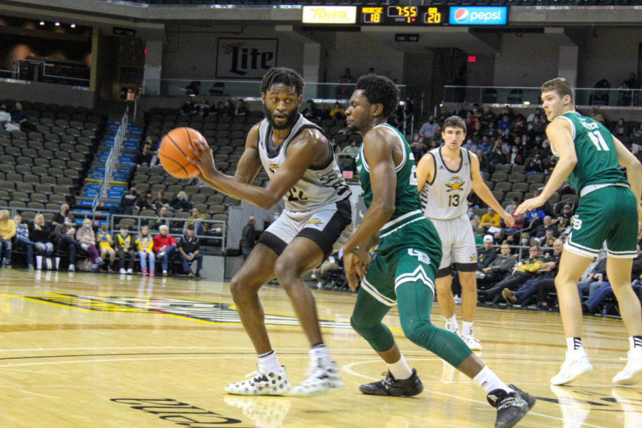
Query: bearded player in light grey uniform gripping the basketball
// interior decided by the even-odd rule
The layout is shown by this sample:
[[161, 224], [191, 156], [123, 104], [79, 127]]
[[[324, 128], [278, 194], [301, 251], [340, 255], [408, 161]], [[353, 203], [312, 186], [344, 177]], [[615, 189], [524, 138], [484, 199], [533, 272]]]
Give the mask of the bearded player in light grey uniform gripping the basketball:
[[[263, 76], [265, 118], [250, 129], [233, 177], [216, 170], [204, 140], [190, 148], [190, 162], [200, 170], [198, 178], [210, 187], [264, 209], [279, 198], [285, 200], [282, 215], [263, 232], [230, 282], [240, 320], [258, 354], [258, 372], [228, 384], [225, 391], [230, 394], [289, 391], [310, 396], [343, 387], [321, 337], [314, 297], [301, 276], [342, 247], [354, 228], [356, 210], [330, 141], [319, 126], [298, 112], [304, 86], [303, 78], [290, 68], [272, 68]], [[270, 182], [265, 188], [250, 185], [262, 165]], [[260, 287], [275, 276], [290, 297], [311, 346], [308, 377], [296, 387], [290, 385], [272, 350], [258, 299]]]

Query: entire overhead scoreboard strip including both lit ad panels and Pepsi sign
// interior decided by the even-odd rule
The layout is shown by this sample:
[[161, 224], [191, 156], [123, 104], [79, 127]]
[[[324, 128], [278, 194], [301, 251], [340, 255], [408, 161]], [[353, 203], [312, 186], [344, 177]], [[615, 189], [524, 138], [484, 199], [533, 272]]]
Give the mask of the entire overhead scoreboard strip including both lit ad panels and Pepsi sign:
[[304, 24], [362, 26], [506, 25], [506, 6], [303, 6]]

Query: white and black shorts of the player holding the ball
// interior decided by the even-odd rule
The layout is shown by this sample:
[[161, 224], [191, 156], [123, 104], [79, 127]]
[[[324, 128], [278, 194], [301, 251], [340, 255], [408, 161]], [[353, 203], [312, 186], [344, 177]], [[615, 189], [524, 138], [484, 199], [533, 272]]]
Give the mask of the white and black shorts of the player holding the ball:
[[357, 209], [350, 199], [324, 205], [314, 211], [283, 210], [260, 236], [277, 255], [297, 236], [314, 241], [325, 257], [338, 251], [355, 228]]

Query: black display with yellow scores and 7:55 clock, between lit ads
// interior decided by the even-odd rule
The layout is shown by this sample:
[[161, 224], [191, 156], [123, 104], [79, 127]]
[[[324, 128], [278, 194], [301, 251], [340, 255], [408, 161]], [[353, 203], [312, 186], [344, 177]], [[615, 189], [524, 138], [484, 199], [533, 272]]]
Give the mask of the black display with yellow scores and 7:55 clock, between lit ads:
[[362, 6], [365, 25], [447, 25], [448, 6]]

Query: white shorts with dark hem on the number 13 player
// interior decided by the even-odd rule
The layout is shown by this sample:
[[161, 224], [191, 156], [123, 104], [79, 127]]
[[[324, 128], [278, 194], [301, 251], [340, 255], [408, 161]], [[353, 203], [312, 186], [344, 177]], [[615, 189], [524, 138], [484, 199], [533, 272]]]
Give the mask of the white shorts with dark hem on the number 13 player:
[[442, 240], [442, 263], [437, 277], [450, 275], [451, 265], [461, 272], [477, 270], [477, 247], [468, 214], [450, 220], [430, 220]]

